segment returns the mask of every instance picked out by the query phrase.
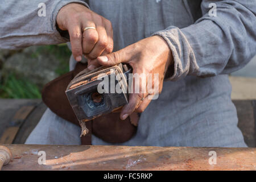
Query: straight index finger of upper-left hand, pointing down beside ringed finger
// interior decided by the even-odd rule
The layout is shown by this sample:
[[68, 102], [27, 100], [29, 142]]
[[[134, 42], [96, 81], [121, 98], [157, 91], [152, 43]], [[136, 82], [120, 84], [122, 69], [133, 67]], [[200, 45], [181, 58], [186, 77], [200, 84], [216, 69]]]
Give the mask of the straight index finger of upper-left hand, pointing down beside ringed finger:
[[72, 23], [68, 27], [72, 54], [77, 61], [82, 60], [82, 33], [78, 23]]

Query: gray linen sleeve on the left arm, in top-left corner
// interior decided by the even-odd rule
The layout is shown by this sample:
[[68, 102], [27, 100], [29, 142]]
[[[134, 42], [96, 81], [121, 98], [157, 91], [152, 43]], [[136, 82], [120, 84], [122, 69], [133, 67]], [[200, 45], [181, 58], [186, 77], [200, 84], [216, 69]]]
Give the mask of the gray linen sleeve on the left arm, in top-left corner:
[[[48, 45], [68, 42], [56, 28], [56, 16], [61, 7], [73, 0], [33, 0], [1, 2], [0, 6], [0, 48], [21, 49], [32, 45]], [[38, 15], [45, 7], [46, 13]], [[44, 16], [45, 15], [45, 16]]]

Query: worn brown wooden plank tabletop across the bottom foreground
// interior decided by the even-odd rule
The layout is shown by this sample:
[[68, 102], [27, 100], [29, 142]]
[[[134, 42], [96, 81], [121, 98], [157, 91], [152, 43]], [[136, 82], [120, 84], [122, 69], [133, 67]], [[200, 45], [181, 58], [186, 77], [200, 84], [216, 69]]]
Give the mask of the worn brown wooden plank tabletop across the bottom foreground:
[[[2, 170], [256, 170], [256, 148], [4, 146], [13, 160]], [[46, 164], [38, 164], [39, 151]], [[209, 163], [210, 151], [216, 164]]]

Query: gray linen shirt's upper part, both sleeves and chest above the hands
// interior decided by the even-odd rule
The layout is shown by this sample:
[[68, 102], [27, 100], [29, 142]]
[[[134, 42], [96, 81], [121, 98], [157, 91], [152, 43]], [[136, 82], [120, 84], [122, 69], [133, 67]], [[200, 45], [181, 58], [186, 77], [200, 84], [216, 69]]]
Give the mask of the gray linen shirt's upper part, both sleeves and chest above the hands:
[[[42, 2], [46, 5], [46, 16], [40, 17], [38, 5]], [[67, 42], [56, 30], [55, 22], [59, 9], [71, 2], [86, 5], [84, 1], [73, 0], [3, 1], [0, 48]], [[208, 12], [212, 2], [217, 11], [211, 17]], [[175, 73], [170, 80], [230, 73], [255, 55], [255, 0], [94, 0], [89, 4], [93, 11], [113, 23], [114, 50], [151, 35], [162, 36], [175, 60]]]

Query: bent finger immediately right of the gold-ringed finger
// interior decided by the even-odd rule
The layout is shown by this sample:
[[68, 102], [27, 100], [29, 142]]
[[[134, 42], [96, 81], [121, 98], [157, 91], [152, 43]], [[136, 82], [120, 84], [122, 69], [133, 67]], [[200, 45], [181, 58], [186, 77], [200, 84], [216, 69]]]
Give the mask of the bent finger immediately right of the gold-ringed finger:
[[96, 59], [102, 52], [104, 52], [106, 46], [108, 46], [108, 35], [106, 34], [105, 27], [97, 26], [96, 30], [98, 32], [98, 41], [92, 51], [86, 55], [89, 59]]

